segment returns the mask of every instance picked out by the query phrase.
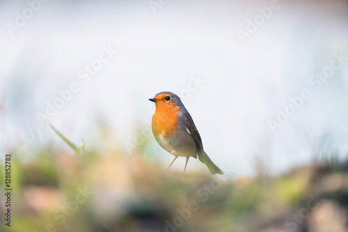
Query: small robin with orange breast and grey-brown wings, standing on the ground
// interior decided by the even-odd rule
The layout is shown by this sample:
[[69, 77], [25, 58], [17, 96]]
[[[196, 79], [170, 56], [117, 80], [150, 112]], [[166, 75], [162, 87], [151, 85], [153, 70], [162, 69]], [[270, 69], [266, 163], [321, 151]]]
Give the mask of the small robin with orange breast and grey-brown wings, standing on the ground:
[[211, 174], [223, 174], [203, 149], [202, 139], [193, 119], [180, 97], [173, 92], [159, 92], [154, 98], [156, 110], [152, 116], [152, 133], [159, 145], [175, 156], [167, 170], [178, 156], [186, 157], [184, 173], [189, 158], [197, 158], [207, 165]]

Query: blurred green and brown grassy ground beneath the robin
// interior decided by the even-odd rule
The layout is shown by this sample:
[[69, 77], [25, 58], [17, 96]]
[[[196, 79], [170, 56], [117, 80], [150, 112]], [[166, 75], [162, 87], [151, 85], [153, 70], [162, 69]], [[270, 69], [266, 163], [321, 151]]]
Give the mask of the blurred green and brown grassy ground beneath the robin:
[[348, 231], [347, 162], [251, 179], [226, 169], [166, 172], [122, 152], [70, 146], [77, 154], [42, 147], [24, 161], [13, 152], [13, 222], [0, 231]]

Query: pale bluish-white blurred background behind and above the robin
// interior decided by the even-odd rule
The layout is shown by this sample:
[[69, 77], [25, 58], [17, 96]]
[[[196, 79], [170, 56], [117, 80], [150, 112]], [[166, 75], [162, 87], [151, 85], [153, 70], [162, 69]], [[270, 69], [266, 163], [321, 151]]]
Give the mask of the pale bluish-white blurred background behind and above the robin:
[[[245, 30], [246, 19], [269, 2], [168, 1], [154, 15], [148, 1], [49, 1], [10, 38], [6, 23], [28, 5], [1, 1], [0, 102], [8, 106], [0, 115], [1, 150], [29, 147], [30, 158], [37, 144], [65, 146], [35, 115], [72, 82], [81, 89], [52, 124], [75, 142], [84, 138], [87, 149], [126, 150], [155, 111], [148, 99], [161, 91], [179, 94], [190, 76], [200, 76], [205, 83], [184, 104], [219, 166], [253, 175], [263, 163], [278, 174], [320, 160], [323, 138], [347, 158], [348, 63], [319, 90], [308, 79], [333, 53], [348, 56], [348, 2], [280, 1], [242, 44], [237, 29]], [[82, 83], [79, 69], [109, 45], [118, 53]], [[267, 120], [303, 88], [313, 96], [272, 133]], [[95, 129], [100, 118], [109, 121], [114, 140]], [[173, 156], [149, 138], [146, 157], [166, 167]], [[183, 167], [184, 159], [173, 165]], [[194, 160], [189, 168], [204, 167]]]

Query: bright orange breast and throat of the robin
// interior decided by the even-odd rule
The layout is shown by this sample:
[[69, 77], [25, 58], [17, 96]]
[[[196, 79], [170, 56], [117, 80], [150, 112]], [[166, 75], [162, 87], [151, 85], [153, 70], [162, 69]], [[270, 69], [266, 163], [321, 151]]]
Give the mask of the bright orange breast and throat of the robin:
[[156, 112], [152, 117], [152, 131], [156, 135], [165, 134], [172, 137], [177, 128], [177, 113], [179, 106], [169, 106], [165, 103], [156, 104]]

